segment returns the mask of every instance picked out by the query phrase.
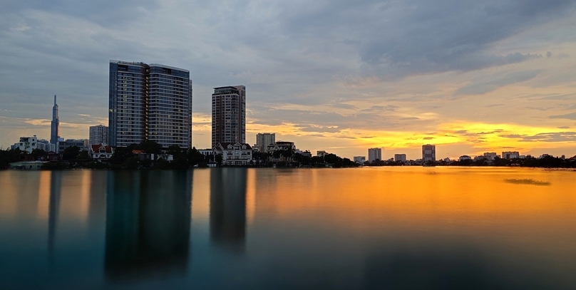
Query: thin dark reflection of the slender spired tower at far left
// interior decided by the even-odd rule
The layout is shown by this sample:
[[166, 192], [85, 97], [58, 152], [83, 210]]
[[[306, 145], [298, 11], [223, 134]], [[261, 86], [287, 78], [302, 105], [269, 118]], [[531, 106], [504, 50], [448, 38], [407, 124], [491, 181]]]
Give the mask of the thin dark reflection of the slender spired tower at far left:
[[58, 207], [62, 190], [62, 172], [50, 172], [50, 201], [48, 202], [48, 258], [53, 261], [54, 242], [56, 239], [56, 224], [58, 222]]

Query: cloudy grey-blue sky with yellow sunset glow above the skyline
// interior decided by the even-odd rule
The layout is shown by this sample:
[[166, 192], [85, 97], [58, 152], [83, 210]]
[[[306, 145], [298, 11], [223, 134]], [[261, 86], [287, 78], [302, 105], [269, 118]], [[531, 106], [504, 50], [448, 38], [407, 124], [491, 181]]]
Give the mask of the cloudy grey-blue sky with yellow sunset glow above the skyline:
[[0, 147], [108, 125], [109, 61], [185, 68], [193, 138], [217, 86], [247, 90], [247, 143], [342, 157], [576, 155], [576, 0], [0, 0]]

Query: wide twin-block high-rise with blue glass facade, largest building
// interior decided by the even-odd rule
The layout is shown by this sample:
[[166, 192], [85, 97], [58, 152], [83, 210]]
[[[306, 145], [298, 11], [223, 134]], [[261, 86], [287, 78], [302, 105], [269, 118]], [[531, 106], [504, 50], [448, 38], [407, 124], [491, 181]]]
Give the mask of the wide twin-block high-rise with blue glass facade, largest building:
[[108, 143], [125, 147], [151, 140], [192, 145], [190, 71], [152, 63], [110, 61]]

